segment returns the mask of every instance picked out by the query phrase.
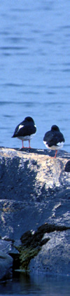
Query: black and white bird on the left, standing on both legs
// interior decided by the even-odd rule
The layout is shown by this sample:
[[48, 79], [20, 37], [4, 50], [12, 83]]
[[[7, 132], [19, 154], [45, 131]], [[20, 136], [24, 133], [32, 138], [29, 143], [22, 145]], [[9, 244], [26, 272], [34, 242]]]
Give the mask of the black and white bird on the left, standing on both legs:
[[24, 141], [29, 141], [29, 148], [30, 147], [30, 140], [31, 135], [36, 133], [36, 126], [34, 120], [27, 116], [18, 126], [15, 128], [15, 132], [12, 137], [18, 137], [18, 139], [22, 140], [22, 148], [24, 147]]

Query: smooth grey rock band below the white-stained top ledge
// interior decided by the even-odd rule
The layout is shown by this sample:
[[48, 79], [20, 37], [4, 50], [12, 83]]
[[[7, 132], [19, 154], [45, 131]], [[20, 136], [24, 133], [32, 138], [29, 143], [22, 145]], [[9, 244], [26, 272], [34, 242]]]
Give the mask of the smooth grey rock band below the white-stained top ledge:
[[18, 240], [26, 231], [35, 231], [45, 222], [69, 226], [69, 199], [70, 190], [62, 189], [41, 202], [1, 200], [1, 237]]

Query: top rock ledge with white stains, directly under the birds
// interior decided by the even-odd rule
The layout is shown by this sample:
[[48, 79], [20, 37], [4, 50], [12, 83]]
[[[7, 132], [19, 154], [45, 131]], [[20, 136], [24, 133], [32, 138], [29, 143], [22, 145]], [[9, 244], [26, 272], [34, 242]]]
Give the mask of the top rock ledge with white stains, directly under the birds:
[[[45, 154], [46, 152], [46, 154]], [[56, 159], [47, 150], [0, 149], [0, 199], [27, 201], [27, 204], [45, 200], [50, 194], [61, 191], [68, 177], [64, 166], [69, 154], [60, 152]]]

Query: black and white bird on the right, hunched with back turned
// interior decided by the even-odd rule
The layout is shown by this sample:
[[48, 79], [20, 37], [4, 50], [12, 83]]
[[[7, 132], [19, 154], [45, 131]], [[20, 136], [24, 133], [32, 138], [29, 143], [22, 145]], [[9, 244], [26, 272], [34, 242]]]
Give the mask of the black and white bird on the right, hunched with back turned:
[[43, 142], [45, 146], [51, 150], [56, 150], [55, 156], [57, 155], [57, 150], [61, 149], [64, 144], [64, 136], [60, 132], [58, 126], [52, 126], [51, 130], [48, 130], [43, 137]]

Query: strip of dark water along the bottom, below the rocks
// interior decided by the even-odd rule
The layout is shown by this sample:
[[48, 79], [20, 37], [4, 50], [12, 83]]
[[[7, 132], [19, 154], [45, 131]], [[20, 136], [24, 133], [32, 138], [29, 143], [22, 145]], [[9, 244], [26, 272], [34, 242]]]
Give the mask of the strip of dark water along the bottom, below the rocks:
[[29, 276], [20, 274], [14, 278], [13, 283], [1, 284], [0, 295], [24, 296], [69, 296], [69, 278], [64, 276]]

